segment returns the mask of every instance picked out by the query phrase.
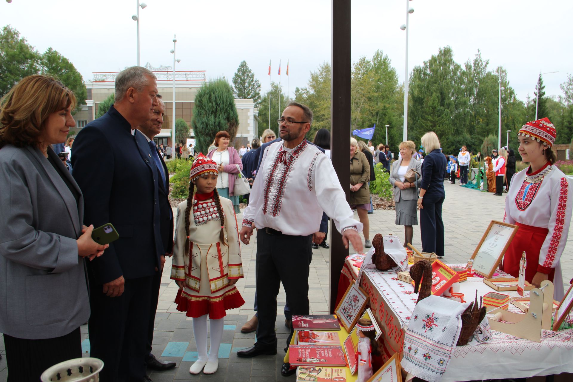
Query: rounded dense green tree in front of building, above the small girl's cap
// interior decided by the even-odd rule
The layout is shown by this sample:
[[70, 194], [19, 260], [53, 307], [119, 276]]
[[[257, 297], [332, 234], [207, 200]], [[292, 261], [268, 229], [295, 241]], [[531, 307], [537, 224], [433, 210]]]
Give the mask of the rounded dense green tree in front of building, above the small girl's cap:
[[217, 78], [201, 86], [195, 96], [191, 123], [197, 137], [199, 152], [207, 152], [219, 131], [228, 132], [231, 141], [235, 138], [239, 127], [239, 116], [233, 89], [227, 81]]

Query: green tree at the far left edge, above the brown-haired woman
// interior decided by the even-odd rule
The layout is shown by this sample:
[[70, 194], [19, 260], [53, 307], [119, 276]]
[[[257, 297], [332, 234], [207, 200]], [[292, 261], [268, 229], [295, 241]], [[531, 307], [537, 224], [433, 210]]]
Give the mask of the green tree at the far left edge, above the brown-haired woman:
[[40, 54], [10, 25], [0, 33], [0, 97], [19, 80], [40, 70]]

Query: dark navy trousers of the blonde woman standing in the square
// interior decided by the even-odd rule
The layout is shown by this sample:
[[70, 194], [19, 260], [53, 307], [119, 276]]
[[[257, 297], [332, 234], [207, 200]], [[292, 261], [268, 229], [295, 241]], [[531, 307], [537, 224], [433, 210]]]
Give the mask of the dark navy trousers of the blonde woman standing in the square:
[[424, 197], [420, 210], [420, 233], [422, 251], [444, 256], [444, 222], [442, 221], [442, 198]]

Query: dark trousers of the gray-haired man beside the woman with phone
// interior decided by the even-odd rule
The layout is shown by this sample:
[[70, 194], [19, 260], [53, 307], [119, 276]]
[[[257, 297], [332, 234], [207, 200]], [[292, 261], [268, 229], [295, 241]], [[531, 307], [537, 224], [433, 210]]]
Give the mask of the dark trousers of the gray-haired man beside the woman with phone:
[[123, 294], [113, 298], [90, 282], [89, 342], [91, 356], [105, 364], [101, 382], [144, 379], [153, 278], [127, 279]]

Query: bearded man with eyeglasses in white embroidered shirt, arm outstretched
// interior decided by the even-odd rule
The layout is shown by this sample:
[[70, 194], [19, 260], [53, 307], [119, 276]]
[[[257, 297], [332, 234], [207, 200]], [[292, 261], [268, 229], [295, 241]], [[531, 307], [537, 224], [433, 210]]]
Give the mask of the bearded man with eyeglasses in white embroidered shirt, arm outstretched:
[[[282, 141], [262, 152], [249, 205], [243, 213], [239, 237], [248, 245], [257, 228], [256, 292], [258, 297], [257, 342], [237, 352], [240, 357], [274, 355], [277, 337], [277, 294], [284, 286], [292, 314], [309, 314], [308, 274], [313, 234], [319, 229], [323, 211], [336, 229], [359, 253], [362, 223], [354, 219], [346, 195], [330, 159], [305, 139], [311, 128], [312, 111], [291, 103], [278, 120]], [[293, 334], [286, 340], [288, 345]], [[289, 365], [282, 373], [289, 375]]]

